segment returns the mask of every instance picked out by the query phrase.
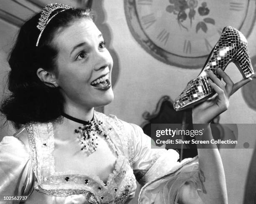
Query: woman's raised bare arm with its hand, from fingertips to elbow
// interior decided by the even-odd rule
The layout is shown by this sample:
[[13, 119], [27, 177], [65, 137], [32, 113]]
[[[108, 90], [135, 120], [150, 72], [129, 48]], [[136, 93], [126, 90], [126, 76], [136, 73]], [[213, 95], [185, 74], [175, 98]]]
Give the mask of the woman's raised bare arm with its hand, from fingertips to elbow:
[[[240, 87], [251, 81], [251, 78], [248, 78], [234, 84], [230, 77], [222, 70], [218, 69], [218, 74], [223, 78], [226, 84], [224, 85], [211, 71], [208, 72], [210, 77], [208, 82], [217, 93], [217, 96], [197, 105], [193, 108], [192, 112], [193, 123], [197, 124], [198, 129], [204, 128], [203, 140], [210, 141], [213, 139], [209, 124], [210, 121], [227, 110], [229, 107], [229, 97]], [[215, 144], [210, 145], [210, 147], [202, 146], [202, 144], [200, 147], [197, 145], [200, 170], [205, 176], [204, 186], [206, 193], [197, 191], [197, 189], [187, 184], [182, 189], [182, 194], [179, 199], [180, 204], [228, 203], [225, 173], [220, 153]]]

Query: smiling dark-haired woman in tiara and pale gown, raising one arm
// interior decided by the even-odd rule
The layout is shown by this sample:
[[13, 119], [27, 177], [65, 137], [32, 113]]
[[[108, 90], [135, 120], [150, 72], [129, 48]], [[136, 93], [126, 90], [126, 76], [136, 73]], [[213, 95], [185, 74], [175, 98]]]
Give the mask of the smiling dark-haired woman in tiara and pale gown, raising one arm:
[[[10, 97], [2, 112], [18, 132], [0, 143], [0, 195], [27, 203], [125, 203], [141, 184], [141, 203], [227, 203], [218, 149], [177, 162], [174, 150], [150, 148], [140, 127], [94, 111], [113, 100], [113, 60], [90, 10], [53, 4], [20, 29], [10, 59]], [[233, 84], [218, 70], [209, 80], [217, 96], [193, 109], [205, 124], [228, 108], [249, 82]], [[202, 174], [203, 173], [203, 174]], [[157, 192], [156, 192], [157, 190]], [[2, 198], [3, 199], [3, 198]]]

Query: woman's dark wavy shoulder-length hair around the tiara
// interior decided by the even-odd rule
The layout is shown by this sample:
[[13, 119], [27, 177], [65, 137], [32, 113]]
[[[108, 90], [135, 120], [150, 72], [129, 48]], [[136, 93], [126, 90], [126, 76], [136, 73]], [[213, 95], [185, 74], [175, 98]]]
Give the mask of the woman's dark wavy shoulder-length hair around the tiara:
[[[50, 17], [58, 10], [51, 13]], [[11, 95], [3, 100], [0, 111], [6, 119], [18, 129], [28, 122], [50, 122], [61, 115], [64, 99], [58, 87], [47, 86], [36, 71], [43, 68], [55, 70], [55, 59], [58, 54], [54, 46], [54, 35], [59, 28], [68, 27], [77, 19], [84, 17], [93, 20], [89, 9], [70, 8], [59, 12], [46, 26], [38, 47], [36, 41], [40, 30], [36, 27], [40, 13], [28, 20], [18, 33], [16, 43], [10, 52], [8, 62], [10, 72], [8, 89]]]

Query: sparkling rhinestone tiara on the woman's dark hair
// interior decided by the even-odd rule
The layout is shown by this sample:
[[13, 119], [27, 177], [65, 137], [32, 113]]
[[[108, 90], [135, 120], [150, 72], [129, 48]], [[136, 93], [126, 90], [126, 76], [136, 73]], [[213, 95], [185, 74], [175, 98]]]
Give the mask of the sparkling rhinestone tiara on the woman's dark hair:
[[[50, 17], [51, 13], [56, 9], [62, 9], [59, 12], [56, 12], [52, 17]], [[39, 40], [41, 38], [42, 33], [44, 32], [44, 29], [46, 28], [46, 25], [51, 21], [51, 19], [56, 16], [58, 13], [63, 12], [64, 10], [67, 10], [69, 8], [72, 8], [72, 6], [65, 5], [65, 4], [47, 4], [44, 9], [41, 12], [40, 18], [38, 19], [37, 28], [41, 30], [37, 41], [36, 41], [36, 47], [38, 47]], [[50, 18], [49, 18], [50, 17]]]

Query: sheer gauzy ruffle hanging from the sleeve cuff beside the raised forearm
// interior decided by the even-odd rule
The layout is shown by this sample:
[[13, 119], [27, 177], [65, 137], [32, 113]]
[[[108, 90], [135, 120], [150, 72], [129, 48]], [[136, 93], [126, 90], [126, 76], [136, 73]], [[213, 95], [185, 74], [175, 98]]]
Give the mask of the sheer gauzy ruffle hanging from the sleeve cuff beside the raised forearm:
[[192, 184], [197, 191], [205, 193], [205, 177], [200, 171], [197, 157], [184, 159], [179, 165], [174, 167], [167, 174], [161, 175], [156, 179], [146, 183], [139, 194], [138, 203], [161, 203], [177, 204], [180, 196], [181, 187], [186, 184]]

